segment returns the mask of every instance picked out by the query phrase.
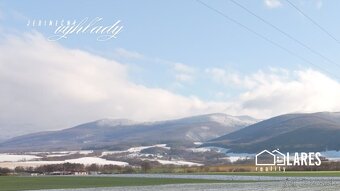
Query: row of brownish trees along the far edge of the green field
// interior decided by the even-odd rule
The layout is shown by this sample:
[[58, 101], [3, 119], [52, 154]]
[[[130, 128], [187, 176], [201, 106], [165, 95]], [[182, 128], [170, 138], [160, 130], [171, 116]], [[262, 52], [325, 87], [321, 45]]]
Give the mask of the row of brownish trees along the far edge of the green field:
[[[39, 167], [0, 168], [0, 176], [5, 175], [86, 175], [86, 174], [131, 174], [131, 173], [206, 173], [206, 172], [250, 172], [253, 164], [227, 164], [211, 166], [162, 165], [157, 161], [135, 161], [131, 166], [82, 165], [74, 163], [50, 164]], [[340, 162], [324, 161], [321, 166], [287, 167], [286, 171], [340, 171]]]

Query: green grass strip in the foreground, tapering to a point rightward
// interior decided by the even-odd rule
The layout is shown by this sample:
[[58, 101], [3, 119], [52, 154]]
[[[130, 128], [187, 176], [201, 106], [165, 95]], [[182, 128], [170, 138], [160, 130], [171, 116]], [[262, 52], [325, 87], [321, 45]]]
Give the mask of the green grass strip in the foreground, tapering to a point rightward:
[[231, 183], [253, 181], [201, 180], [183, 178], [142, 178], [142, 177], [77, 177], [77, 176], [45, 176], [45, 177], [0, 177], [1, 191], [64, 189], [64, 188], [98, 188], [121, 186], [148, 186], [164, 184], [201, 184]]

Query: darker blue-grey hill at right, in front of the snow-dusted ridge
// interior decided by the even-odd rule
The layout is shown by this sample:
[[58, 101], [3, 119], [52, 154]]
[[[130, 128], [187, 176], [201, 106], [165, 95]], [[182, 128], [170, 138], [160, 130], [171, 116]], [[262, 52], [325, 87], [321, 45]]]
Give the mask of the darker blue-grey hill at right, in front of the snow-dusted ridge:
[[208, 141], [230, 152], [324, 151], [340, 149], [340, 113], [287, 114]]

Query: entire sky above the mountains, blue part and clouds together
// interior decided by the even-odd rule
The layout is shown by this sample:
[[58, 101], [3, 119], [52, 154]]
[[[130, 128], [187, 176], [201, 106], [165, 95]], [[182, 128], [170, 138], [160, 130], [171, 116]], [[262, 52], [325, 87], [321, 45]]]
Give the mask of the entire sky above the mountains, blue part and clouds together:
[[[339, 5], [0, 0], [0, 139], [102, 118], [340, 111]], [[51, 41], [56, 26], [27, 26], [86, 18], [122, 30]]]

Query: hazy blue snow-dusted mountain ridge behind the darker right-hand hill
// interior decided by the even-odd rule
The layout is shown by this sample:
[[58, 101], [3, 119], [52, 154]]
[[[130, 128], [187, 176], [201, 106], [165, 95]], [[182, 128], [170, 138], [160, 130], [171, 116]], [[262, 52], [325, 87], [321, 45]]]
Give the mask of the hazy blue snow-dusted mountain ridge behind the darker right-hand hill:
[[158, 143], [192, 144], [233, 132], [256, 120], [248, 116], [208, 114], [169, 121], [137, 123], [98, 120], [61, 131], [12, 138], [0, 151], [103, 149]]

